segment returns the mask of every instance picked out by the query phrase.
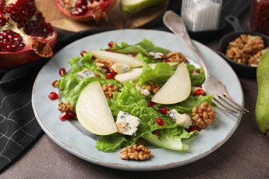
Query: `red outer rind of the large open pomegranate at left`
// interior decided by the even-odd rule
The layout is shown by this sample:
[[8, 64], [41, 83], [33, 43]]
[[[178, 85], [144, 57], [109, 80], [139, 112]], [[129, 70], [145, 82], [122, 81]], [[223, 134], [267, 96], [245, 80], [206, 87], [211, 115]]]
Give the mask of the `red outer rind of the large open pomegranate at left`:
[[[0, 69], [10, 70], [14, 67], [25, 65], [44, 58], [49, 58], [53, 55], [52, 49], [57, 41], [57, 32], [53, 32], [48, 39], [43, 39], [43, 48], [33, 48], [28, 44], [23, 50], [18, 52], [0, 52]], [[39, 41], [39, 43], [41, 43]]]

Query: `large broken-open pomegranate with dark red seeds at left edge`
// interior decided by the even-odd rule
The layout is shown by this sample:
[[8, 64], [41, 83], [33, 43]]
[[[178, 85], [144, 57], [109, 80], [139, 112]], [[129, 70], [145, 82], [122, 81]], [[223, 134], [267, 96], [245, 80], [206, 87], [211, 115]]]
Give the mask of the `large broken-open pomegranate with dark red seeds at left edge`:
[[0, 68], [52, 56], [56, 39], [34, 0], [0, 0]]

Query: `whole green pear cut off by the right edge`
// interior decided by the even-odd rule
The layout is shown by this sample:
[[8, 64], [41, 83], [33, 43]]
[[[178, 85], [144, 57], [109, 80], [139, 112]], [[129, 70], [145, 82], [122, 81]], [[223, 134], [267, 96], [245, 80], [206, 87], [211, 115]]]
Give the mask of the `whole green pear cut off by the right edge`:
[[258, 96], [255, 118], [259, 130], [269, 137], [269, 48], [261, 56], [257, 67]]

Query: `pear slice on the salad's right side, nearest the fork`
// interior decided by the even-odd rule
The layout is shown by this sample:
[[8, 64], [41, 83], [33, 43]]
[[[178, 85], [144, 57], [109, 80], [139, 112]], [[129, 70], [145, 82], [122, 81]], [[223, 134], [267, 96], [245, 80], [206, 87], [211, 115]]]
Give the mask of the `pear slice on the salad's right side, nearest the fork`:
[[151, 101], [159, 104], [175, 104], [184, 101], [190, 95], [190, 74], [185, 63], [179, 63], [175, 73], [166, 81]]

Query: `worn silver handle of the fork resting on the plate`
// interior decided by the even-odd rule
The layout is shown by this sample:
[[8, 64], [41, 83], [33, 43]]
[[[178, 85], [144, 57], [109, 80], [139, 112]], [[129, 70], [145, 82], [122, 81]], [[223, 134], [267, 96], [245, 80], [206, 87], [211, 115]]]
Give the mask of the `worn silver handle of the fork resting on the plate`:
[[206, 65], [206, 62], [203, 60], [203, 57], [201, 56], [200, 52], [195, 47], [195, 44], [192, 43], [188, 31], [186, 29], [186, 26], [183, 20], [179, 17], [179, 15], [173, 12], [172, 10], [168, 10], [163, 15], [163, 23], [172, 32], [174, 32], [175, 35], [177, 35], [180, 39], [182, 39], [186, 43], [186, 45], [188, 45], [192, 49], [193, 54], [195, 54], [195, 56], [201, 63], [201, 66], [205, 71], [206, 77], [210, 77], [211, 74], [209, 72], [208, 66]]

